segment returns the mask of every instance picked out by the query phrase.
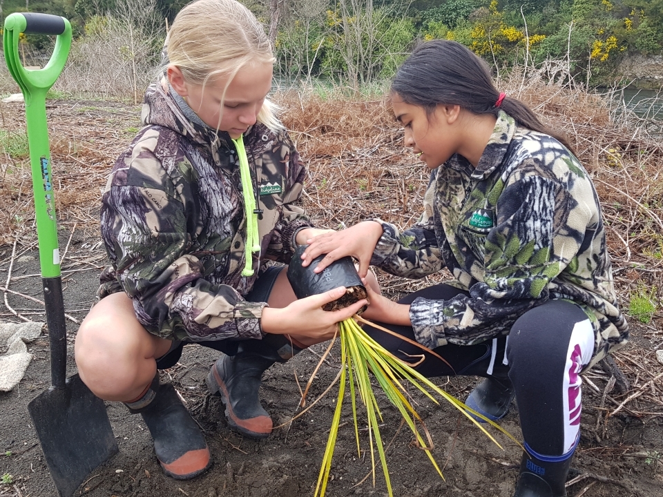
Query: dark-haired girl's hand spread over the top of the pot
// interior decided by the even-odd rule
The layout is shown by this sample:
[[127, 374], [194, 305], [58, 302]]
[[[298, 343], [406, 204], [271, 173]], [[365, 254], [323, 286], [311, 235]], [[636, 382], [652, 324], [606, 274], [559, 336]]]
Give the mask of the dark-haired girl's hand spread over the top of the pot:
[[347, 228], [343, 231], [332, 231], [324, 233], [307, 240], [305, 253], [302, 254], [302, 266], [311, 264], [318, 255], [327, 254], [314, 269], [320, 273], [335, 260], [347, 255], [352, 255], [359, 261], [359, 275], [365, 277], [375, 246], [382, 236], [383, 230], [380, 223], [365, 221]]

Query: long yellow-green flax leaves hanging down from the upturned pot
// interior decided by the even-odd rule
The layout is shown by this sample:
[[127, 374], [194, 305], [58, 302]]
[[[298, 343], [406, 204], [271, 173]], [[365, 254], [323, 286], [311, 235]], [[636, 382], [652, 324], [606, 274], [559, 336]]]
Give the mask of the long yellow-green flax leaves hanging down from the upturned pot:
[[[433, 467], [436, 469], [438, 474], [444, 479], [442, 471], [435, 462], [431, 449], [433, 448], [432, 438], [430, 433], [427, 431], [421, 416], [416, 413], [414, 407], [412, 407], [412, 400], [410, 394], [407, 392], [405, 387], [406, 384], [412, 384], [414, 387], [419, 389], [424, 393], [425, 396], [430, 398], [433, 402], [438, 404], [439, 402], [432, 396], [432, 393], [437, 393], [439, 396], [451, 402], [451, 404], [459, 409], [464, 416], [474, 422], [483, 433], [486, 433], [486, 436], [490, 438], [498, 447], [502, 448], [501, 445], [495, 440], [486, 429], [481, 426], [477, 421], [476, 416], [481, 418], [491, 425], [505, 433], [508, 437], [514, 440], [518, 445], [520, 443], [513, 438], [510, 433], [501, 428], [496, 423], [488, 420], [487, 418], [481, 416], [481, 414], [473, 411], [467, 407], [463, 402], [454, 398], [454, 396], [445, 392], [443, 389], [437, 387], [435, 384], [430, 382], [427, 378], [418, 373], [413, 369], [414, 366], [418, 365], [423, 361], [423, 355], [419, 359], [419, 362], [410, 364], [404, 362], [403, 360], [396, 358], [392, 353], [387, 351], [382, 347], [378, 342], [373, 340], [359, 325], [356, 320], [370, 324], [372, 327], [381, 329], [386, 333], [392, 333], [393, 331], [378, 327], [376, 324], [372, 324], [358, 315], [355, 315], [354, 318], [340, 322], [339, 327], [339, 336], [340, 336], [340, 356], [341, 356], [341, 370], [339, 373], [340, 376], [340, 387], [338, 390], [338, 399], [336, 400], [336, 411], [334, 411], [334, 418], [332, 420], [332, 428], [329, 431], [329, 439], [327, 440], [327, 448], [325, 449], [325, 455], [323, 456], [322, 467], [320, 468], [320, 474], [318, 476], [318, 484], [316, 485], [315, 497], [324, 497], [325, 490], [327, 489], [327, 481], [329, 480], [329, 471], [332, 467], [332, 456], [334, 456], [334, 447], [336, 446], [336, 436], [338, 435], [338, 427], [340, 423], [341, 408], [343, 406], [343, 400], [345, 398], [346, 383], [349, 384], [350, 390], [350, 400], [352, 402], [352, 418], [354, 420], [354, 435], [357, 442], [357, 451], [361, 454], [360, 444], [359, 444], [359, 429], [358, 429], [358, 420], [357, 420], [357, 402], [356, 402], [356, 393], [359, 394], [359, 398], [363, 405], [366, 408], [366, 419], [368, 425], [368, 437], [370, 445], [370, 454], [371, 454], [371, 465], [372, 465], [372, 474], [373, 474], [373, 485], [375, 485], [375, 460], [376, 454], [375, 449], [377, 449], [378, 458], [380, 459], [383, 474], [385, 476], [385, 483], [387, 484], [387, 491], [389, 492], [390, 497], [393, 496], [392, 493], [392, 484], [389, 476], [389, 471], [387, 469], [387, 458], [385, 456], [385, 447], [383, 439], [379, 429], [379, 421], [383, 419], [380, 408], [378, 407], [378, 402], [375, 398], [369, 372], [377, 380], [381, 389], [385, 392], [387, 398], [390, 400], [392, 405], [400, 411], [403, 420], [407, 423], [407, 426], [410, 427], [414, 437], [416, 438], [417, 444], [421, 449], [423, 449], [432, 462]], [[400, 337], [400, 335], [399, 335]], [[400, 337], [403, 340], [408, 340], [407, 338]], [[416, 342], [412, 342], [416, 344]], [[420, 344], [416, 344], [418, 347], [424, 349]], [[327, 349], [327, 353], [331, 350], [331, 345]], [[428, 351], [428, 349], [425, 349]], [[429, 351], [439, 357], [436, 353]], [[327, 355], [325, 353], [325, 355]], [[324, 357], [323, 357], [324, 360]], [[320, 360], [322, 362], [322, 360]], [[319, 366], [319, 364], [318, 364]], [[317, 371], [317, 369], [316, 369]], [[315, 376], [315, 373], [311, 376], [311, 380]], [[338, 379], [338, 376], [336, 377]], [[336, 380], [334, 380], [336, 382]], [[309, 380], [310, 386], [310, 380]], [[306, 389], [308, 391], [308, 388]], [[304, 398], [306, 396], [306, 391], [302, 395], [302, 406], [305, 402]], [[327, 389], [329, 391], [329, 388]], [[327, 392], [325, 391], [325, 393]], [[323, 393], [323, 396], [325, 394]], [[317, 400], [320, 400], [318, 398]], [[317, 402], [316, 400], [316, 402]], [[316, 403], [314, 402], [314, 404]], [[306, 410], [310, 409], [307, 408]], [[300, 416], [301, 412], [298, 416]], [[296, 416], [296, 417], [298, 417]], [[423, 432], [423, 434], [422, 434]], [[424, 440], [425, 438], [425, 440]]]

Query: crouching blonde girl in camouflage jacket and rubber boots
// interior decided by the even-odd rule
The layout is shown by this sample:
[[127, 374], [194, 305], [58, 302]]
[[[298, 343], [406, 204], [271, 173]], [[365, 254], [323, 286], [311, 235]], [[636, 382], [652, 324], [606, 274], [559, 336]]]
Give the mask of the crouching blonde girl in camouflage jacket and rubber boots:
[[271, 433], [262, 373], [331, 338], [339, 288], [296, 300], [285, 266], [296, 244], [324, 233], [296, 202], [305, 168], [273, 115], [274, 61], [263, 26], [234, 0], [198, 0], [177, 14], [161, 77], [146, 91], [144, 128], [119, 156], [102, 198], [109, 266], [75, 354], [100, 398], [141, 413], [173, 478], [211, 464], [204, 436], [157, 369], [185, 342], [224, 352], [207, 384], [229, 425]]

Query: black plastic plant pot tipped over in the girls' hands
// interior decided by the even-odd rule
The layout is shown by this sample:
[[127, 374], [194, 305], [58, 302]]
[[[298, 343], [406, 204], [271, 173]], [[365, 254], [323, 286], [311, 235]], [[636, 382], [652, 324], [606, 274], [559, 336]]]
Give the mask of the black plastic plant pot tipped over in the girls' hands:
[[[306, 248], [307, 245], [298, 246], [288, 267], [288, 280], [297, 298], [310, 297], [311, 295], [318, 295], [318, 293], [325, 293], [339, 286], [345, 286], [345, 295], [334, 300], [334, 302], [325, 304], [323, 306], [325, 311], [337, 311], [367, 298], [366, 289], [361, 282], [361, 278], [354, 267], [351, 257], [343, 257], [336, 260], [332, 264], [329, 264], [322, 273], [314, 273], [313, 270], [318, 265], [318, 262], [323, 260], [325, 255], [316, 257], [311, 264], [302, 267], [302, 253], [304, 253]], [[365, 310], [366, 306], [363, 306], [358, 313], [362, 313]]]

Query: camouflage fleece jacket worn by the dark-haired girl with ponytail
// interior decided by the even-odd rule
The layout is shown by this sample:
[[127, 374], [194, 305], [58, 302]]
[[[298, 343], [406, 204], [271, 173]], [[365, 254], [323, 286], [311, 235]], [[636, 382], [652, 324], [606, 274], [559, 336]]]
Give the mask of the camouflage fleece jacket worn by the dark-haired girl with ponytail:
[[454, 155], [432, 171], [413, 228], [400, 233], [378, 222], [384, 233], [372, 264], [412, 278], [446, 266], [451, 284], [470, 293], [412, 302], [412, 327], [427, 347], [506, 335], [520, 315], [550, 299], [572, 300], [587, 313], [592, 364], [628, 338], [590, 177], [557, 140], [516, 126], [506, 113], [477, 168]]

